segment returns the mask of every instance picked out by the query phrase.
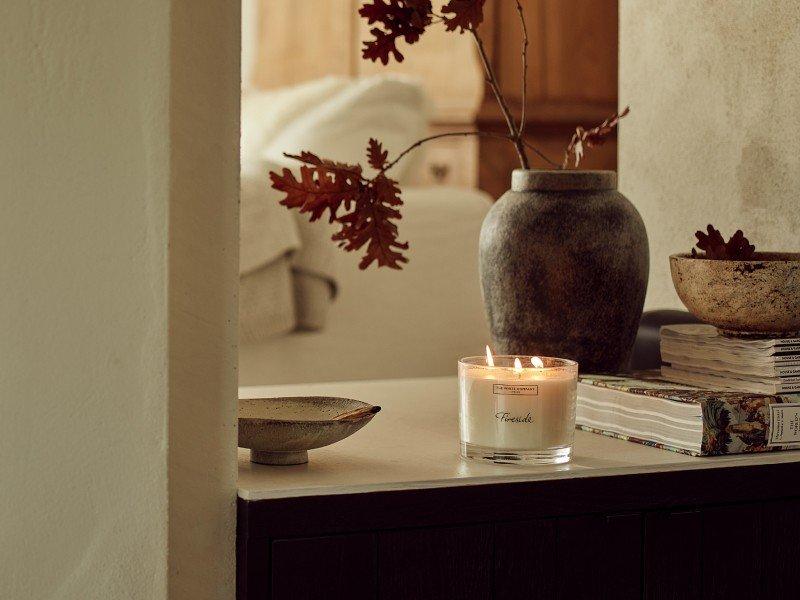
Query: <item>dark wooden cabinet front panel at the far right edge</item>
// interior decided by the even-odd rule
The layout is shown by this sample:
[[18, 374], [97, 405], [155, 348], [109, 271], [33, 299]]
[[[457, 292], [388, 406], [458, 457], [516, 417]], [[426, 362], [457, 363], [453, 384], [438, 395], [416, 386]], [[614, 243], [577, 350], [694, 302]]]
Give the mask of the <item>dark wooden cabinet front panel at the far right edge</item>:
[[797, 598], [800, 596], [797, 583], [800, 565], [800, 500], [765, 502], [762, 519], [763, 588], [754, 597]]

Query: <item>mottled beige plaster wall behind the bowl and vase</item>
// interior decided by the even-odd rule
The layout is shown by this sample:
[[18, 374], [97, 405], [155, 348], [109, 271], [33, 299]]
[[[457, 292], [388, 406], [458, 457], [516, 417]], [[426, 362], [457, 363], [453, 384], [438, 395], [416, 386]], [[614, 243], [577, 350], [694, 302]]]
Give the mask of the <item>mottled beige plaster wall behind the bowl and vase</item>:
[[800, 2], [621, 0], [620, 189], [650, 237], [646, 308], [680, 307], [667, 257], [741, 228], [800, 250]]

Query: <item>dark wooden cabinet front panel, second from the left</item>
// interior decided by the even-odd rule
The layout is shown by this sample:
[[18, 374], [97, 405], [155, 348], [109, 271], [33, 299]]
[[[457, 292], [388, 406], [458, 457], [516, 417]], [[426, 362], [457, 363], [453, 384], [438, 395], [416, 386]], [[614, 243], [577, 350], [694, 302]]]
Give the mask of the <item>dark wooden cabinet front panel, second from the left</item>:
[[381, 600], [491, 598], [489, 525], [387, 531], [378, 535]]

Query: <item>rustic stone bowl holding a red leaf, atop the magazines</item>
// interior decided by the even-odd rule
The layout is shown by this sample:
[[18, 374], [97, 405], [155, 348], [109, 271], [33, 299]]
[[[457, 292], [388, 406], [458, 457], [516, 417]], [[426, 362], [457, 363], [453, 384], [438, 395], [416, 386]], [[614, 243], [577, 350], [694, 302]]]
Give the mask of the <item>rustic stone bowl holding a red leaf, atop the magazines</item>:
[[689, 311], [735, 337], [800, 335], [800, 254], [757, 252], [752, 260], [669, 257]]

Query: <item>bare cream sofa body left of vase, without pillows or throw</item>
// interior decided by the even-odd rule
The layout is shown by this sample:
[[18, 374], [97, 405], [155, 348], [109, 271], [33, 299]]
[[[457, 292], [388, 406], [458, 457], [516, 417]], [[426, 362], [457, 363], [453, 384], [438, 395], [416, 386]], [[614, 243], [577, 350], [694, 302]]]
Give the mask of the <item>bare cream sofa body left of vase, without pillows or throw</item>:
[[359, 253], [339, 252], [324, 329], [242, 345], [240, 385], [452, 375], [459, 357], [483, 353], [478, 235], [490, 198], [454, 188], [403, 198], [404, 269], [360, 271]]

